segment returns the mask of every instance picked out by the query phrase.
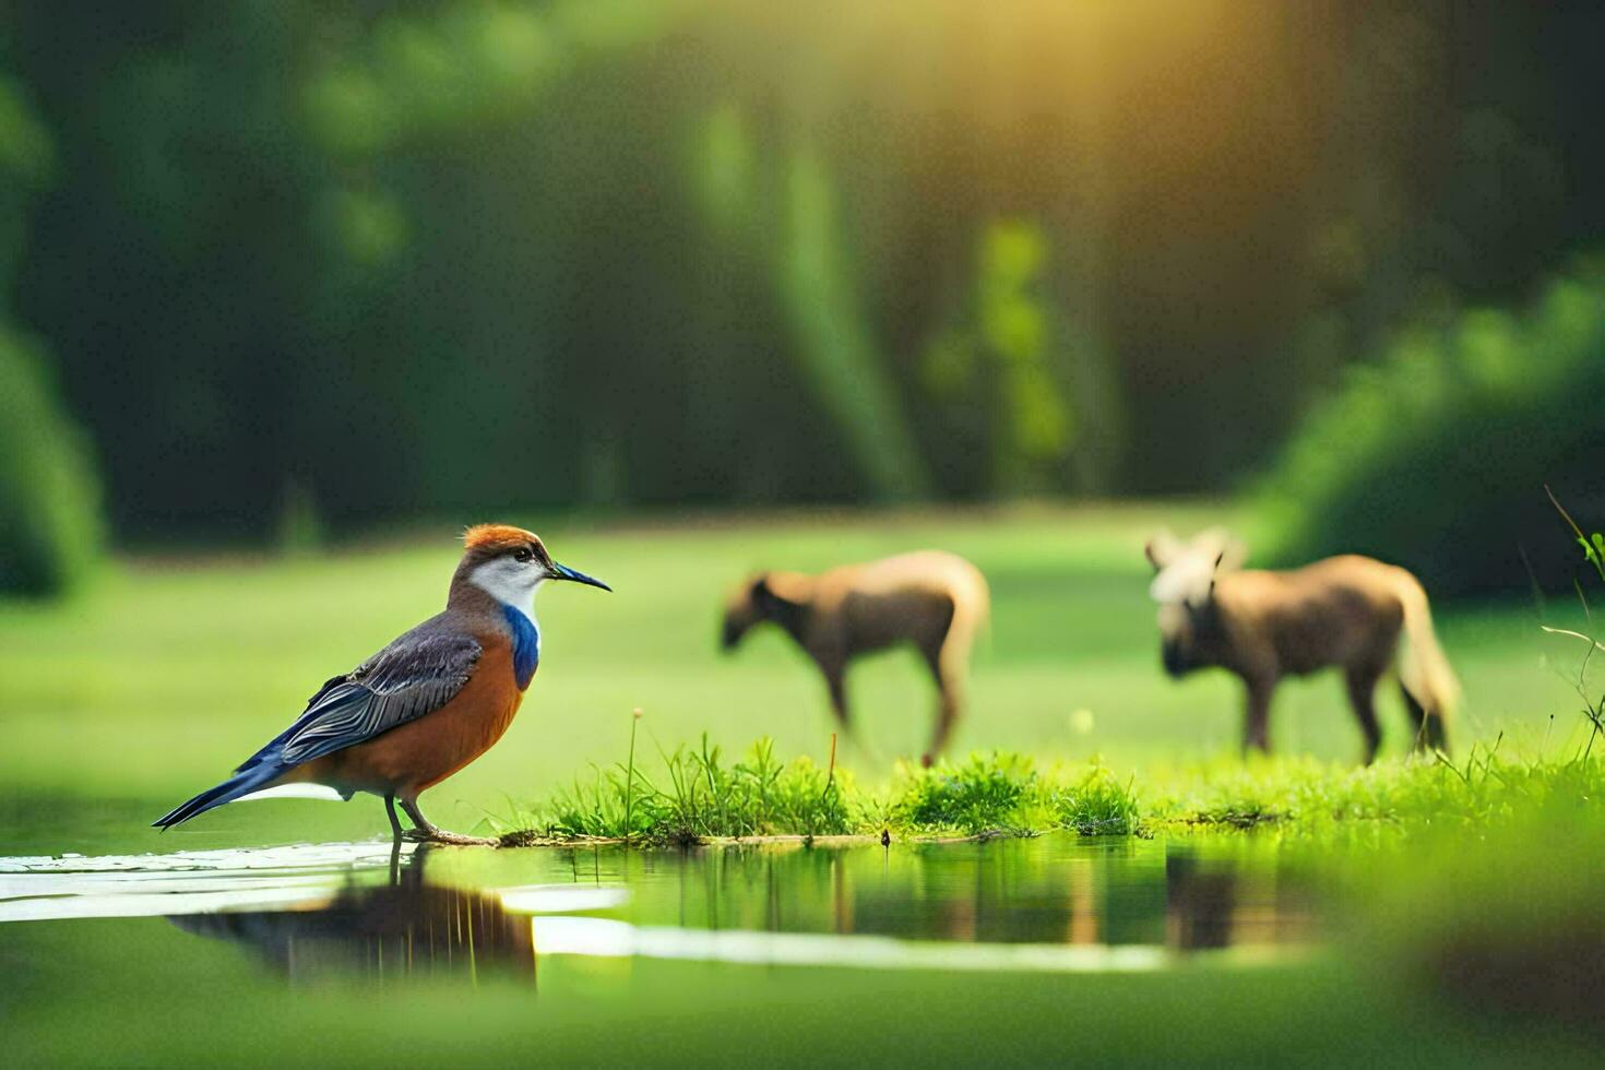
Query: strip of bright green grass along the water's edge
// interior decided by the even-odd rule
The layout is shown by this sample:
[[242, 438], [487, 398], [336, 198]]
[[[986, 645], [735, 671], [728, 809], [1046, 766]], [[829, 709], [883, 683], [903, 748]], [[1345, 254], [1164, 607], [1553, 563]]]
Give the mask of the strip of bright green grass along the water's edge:
[[592, 768], [552, 799], [494, 818], [509, 844], [616, 839], [690, 844], [756, 836], [1146, 836], [1254, 829], [1321, 836], [1356, 828], [1509, 825], [1605, 796], [1605, 762], [1502, 757], [1472, 748], [1371, 767], [1313, 759], [1217, 760], [1119, 776], [1103, 764], [1037, 768], [1021, 754], [971, 754], [933, 768], [900, 764], [881, 788], [809, 757], [782, 762], [772, 740], [727, 760], [705, 736], [660, 754], [647, 775], [634, 757]]

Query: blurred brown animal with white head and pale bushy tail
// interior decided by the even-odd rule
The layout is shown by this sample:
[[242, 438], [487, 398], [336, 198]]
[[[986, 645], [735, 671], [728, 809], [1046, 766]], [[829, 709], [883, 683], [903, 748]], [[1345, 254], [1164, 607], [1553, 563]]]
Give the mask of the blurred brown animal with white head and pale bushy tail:
[[1433, 635], [1427, 594], [1403, 568], [1348, 555], [1282, 573], [1236, 571], [1242, 547], [1221, 531], [1193, 542], [1165, 533], [1146, 552], [1157, 573], [1151, 594], [1165, 671], [1181, 677], [1220, 666], [1239, 675], [1247, 687], [1244, 749], [1270, 752], [1271, 693], [1284, 675], [1337, 667], [1369, 764], [1382, 741], [1374, 691], [1395, 655], [1416, 748], [1448, 749], [1459, 685]]

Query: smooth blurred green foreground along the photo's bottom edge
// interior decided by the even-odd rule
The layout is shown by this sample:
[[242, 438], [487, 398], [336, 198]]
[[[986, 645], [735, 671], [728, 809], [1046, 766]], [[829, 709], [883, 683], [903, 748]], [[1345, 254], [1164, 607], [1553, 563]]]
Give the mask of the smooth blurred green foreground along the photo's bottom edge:
[[[18, 1065], [1586, 1065], [1591, 1038], [1469, 1014], [1326, 959], [1255, 971], [973, 974], [541, 961], [539, 991], [360, 977], [286, 987], [162, 919], [37, 926]], [[141, 963], [71, 967], [116, 938]], [[0, 948], [0, 963], [5, 961]], [[56, 971], [61, 971], [58, 975]], [[42, 993], [71, 993], [45, 1003]], [[223, 1011], [220, 1011], [220, 1007]]]

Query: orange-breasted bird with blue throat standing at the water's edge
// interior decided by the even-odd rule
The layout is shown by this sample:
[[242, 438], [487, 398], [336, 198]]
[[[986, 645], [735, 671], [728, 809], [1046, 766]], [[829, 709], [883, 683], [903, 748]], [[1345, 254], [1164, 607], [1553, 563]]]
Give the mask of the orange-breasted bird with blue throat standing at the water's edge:
[[[382, 797], [396, 841], [494, 844], [441, 831], [419, 810], [417, 797], [485, 754], [512, 723], [541, 664], [534, 595], [549, 581], [612, 590], [554, 561], [531, 531], [469, 528], [441, 613], [327, 680], [302, 715], [233, 776], [152, 828], [165, 831], [252, 796], [321, 786], [345, 800], [356, 792]], [[398, 802], [411, 829], [396, 818]]]

